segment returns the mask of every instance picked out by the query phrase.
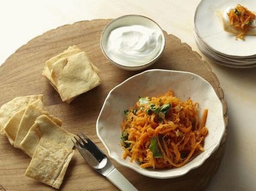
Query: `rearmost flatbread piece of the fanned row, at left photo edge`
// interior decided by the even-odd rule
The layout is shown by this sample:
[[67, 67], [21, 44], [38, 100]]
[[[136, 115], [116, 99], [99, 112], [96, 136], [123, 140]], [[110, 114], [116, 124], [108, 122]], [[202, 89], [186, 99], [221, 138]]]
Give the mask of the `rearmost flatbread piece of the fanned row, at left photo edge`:
[[4, 134], [2, 128], [4, 128], [5, 124], [14, 113], [19, 112], [19, 110], [22, 110], [28, 106], [28, 104], [31, 104], [38, 99], [42, 100], [42, 95], [16, 97], [8, 103], [3, 104], [0, 108], [0, 134]]

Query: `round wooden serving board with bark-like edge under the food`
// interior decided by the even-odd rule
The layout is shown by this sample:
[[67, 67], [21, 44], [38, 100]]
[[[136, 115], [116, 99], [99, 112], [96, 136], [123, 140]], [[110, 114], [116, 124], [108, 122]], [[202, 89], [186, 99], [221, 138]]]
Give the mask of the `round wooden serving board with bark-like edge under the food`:
[[[43, 94], [45, 109], [62, 119], [65, 130], [77, 134], [83, 132], [106, 152], [96, 135], [96, 119], [108, 92], [136, 73], [118, 69], [103, 56], [100, 50], [100, 35], [111, 20], [80, 21], [50, 30], [23, 45], [0, 67], [0, 106], [17, 96]], [[173, 35], [166, 36], [166, 47], [161, 58], [149, 69], [183, 70], [196, 73], [210, 82], [223, 101], [224, 113], [227, 106], [220, 82], [211, 67], [202, 61], [199, 54]], [[86, 51], [90, 60], [100, 70], [102, 84], [79, 96], [71, 104], [63, 103], [59, 94], [47, 79], [41, 76], [45, 61], [56, 56], [70, 45]], [[171, 88], [171, 87], [170, 87]], [[225, 115], [227, 126], [227, 116]], [[205, 190], [217, 170], [224, 153], [224, 135], [219, 149], [199, 168], [188, 174], [167, 180], [144, 177], [129, 168], [115, 167], [138, 188], [138, 190]], [[31, 161], [22, 150], [11, 146], [4, 135], [0, 135], [0, 190], [54, 190], [24, 175]], [[105, 177], [89, 167], [75, 152], [68, 167], [61, 190], [117, 190]]]

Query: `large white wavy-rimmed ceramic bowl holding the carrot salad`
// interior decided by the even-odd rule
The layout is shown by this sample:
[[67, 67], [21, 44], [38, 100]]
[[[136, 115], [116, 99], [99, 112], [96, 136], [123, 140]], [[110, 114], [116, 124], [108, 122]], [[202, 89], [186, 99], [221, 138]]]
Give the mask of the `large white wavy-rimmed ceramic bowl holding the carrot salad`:
[[[175, 96], [182, 101], [191, 98], [197, 101], [202, 110], [208, 108], [206, 127], [209, 134], [205, 139], [205, 152], [180, 168], [167, 170], [142, 169], [136, 162], [129, 162], [129, 157], [123, 159], [121, 148], [121, 122], [123, 111], [133, 106], [138, 96], [158, 96], [173, 90]], [[198, 75], [189, 72], [172, 70], [147, 70], [132, 76], [113, 88], [103, 104], [96, 124], [97, 135], [108, 150], [108, 155], [119, 164], [129, 167], [140, 174], [153, 178], [174, 178], [186, 174], [199, 167], [220, 146], [225, 132], [223, 105], [209, 82]]]

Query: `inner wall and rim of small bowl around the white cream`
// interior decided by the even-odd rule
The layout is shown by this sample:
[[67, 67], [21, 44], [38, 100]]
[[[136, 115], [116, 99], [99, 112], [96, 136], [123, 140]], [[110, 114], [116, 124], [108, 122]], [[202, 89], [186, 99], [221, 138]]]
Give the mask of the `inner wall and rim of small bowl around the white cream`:
[[153, 58], [153, 60], [158, 58], [160, 56], [160, 54], [163, 52], [164, 45], [165, 45], [165, 39], [164, 39], [163, 30], [161, 30], [161, 27], [155, 21], [148, 19], [147, 17], [138, 16], [138, 15], [127, 15], [127, 16], [119, 17], [119, 18], [111, 21], [103, 30], [102, 36], [100, 39], [100, 41], [101, 41], [100, 44], [101, 44], [103, 53], [114, 64], [118, 64], [118, 65], [126, 66], [126, 67], [139, 67], [139, 66], [151, 63], [151, 61], [153, 61], [153, 60], [151, 60], [148, 63], [142, 63], [142, 64], [136, 64], [136, 66], [130, 66], [125, 63], [116, 63], [111, 58], [109, 58], [108, 50], [107, 50], [107, 42], [108, 42], [109, 33], [118, 27], [132, 26], [132, 25], [141, 25], [141, 26], [148, 27], [150, 29], [157, 30], [161, 34], [162, 43], [161, 43], [161, 48], [160, 48], [159, 53], [157, 54], [157, 56], [155, 58]]

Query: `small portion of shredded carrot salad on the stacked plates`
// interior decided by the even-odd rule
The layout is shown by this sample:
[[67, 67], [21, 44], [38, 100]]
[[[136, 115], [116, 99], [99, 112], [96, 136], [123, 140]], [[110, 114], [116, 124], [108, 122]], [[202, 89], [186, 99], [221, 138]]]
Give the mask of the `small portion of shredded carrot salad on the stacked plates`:
[[241, 32], [236, 36], [240, 39], [245, 39], [244, 35], [251, 29], [252, 22], [255, 19], [255, 14], [249, 11], [246, 7], [238, 4], [233, 10], [227, 13], [229, 23], [231, 26], [240, 30]]

